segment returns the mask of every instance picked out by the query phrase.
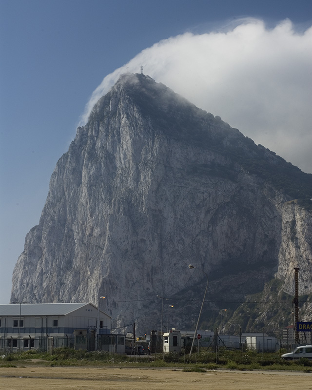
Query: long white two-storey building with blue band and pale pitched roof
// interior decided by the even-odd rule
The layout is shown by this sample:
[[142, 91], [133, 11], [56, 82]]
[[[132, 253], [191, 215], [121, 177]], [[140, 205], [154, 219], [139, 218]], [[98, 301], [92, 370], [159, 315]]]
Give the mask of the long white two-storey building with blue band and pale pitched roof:
[[44, 351], [68, 346], [92, 351], [97, 347], [96, 339], [102, 346], [102, 337], [110, 333], [111, 317], [91, 303], [0, 305], [1, 350]]

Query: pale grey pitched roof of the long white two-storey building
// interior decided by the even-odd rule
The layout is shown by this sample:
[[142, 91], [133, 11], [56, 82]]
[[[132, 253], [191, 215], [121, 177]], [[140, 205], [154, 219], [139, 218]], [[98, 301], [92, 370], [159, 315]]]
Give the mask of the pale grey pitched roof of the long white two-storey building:
[[92, 303], [15, 303], [0, 305], [0, 316], [19, 316], [20, 312], [21, 315], [65, 315], [88, 305], [98, 310]]

